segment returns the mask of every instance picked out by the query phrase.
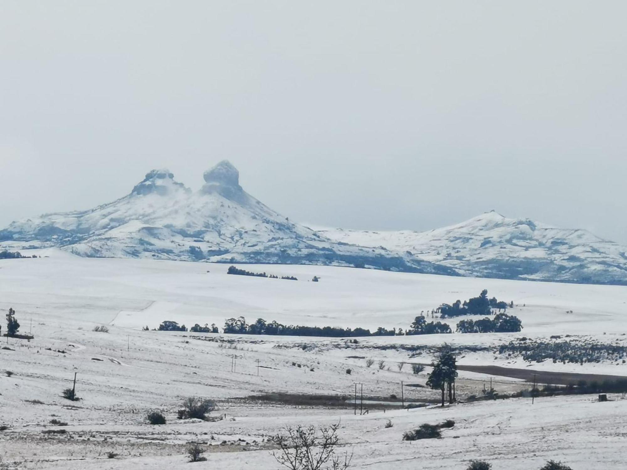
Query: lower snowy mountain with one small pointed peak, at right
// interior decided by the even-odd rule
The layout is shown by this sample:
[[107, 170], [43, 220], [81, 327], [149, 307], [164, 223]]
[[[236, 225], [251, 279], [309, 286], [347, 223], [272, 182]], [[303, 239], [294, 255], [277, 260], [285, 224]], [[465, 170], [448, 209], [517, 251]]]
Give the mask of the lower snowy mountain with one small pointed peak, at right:
[[627, 247], [495, 211], [426, 232], [324, 229], [327, 238], [377, 246], [487, 278], [627, 284]]

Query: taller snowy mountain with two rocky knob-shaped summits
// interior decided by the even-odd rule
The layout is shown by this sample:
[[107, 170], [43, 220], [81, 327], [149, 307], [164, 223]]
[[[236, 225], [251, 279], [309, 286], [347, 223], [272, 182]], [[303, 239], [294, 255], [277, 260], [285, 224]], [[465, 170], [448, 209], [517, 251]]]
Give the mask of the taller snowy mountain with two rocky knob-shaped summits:
[[226, 160], [192, 192], [167, 169], [88, 211], [45, 214], [0, 231], [3, 249], [58, 246], [80, 256], [224, 263], [337, 264], [456, 274], [416, 256], [331, 241], [290, 222], [242, 189]]

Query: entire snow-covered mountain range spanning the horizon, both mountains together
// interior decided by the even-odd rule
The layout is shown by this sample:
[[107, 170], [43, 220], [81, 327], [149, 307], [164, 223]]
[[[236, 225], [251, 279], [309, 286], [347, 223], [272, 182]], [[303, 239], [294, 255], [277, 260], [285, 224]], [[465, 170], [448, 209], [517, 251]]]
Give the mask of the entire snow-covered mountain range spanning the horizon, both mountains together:
[[497, 212], [425, 232], [312, 230], [265, 206], [223, 160], [192, 192], [167, 169], [87, 211], [13, 222], [0, 248], [221, 263], [328, 264], [418, 273], [627, 285], [627, 247]]

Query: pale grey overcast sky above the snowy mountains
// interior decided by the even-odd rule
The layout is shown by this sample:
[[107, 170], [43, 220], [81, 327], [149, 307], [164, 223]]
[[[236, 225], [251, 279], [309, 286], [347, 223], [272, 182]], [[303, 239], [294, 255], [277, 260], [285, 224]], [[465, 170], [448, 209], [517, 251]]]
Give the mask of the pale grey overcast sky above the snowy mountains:
[[627, 243], [624, 1], [0, 3], [0, 226], [222, 159], [317, 226]]

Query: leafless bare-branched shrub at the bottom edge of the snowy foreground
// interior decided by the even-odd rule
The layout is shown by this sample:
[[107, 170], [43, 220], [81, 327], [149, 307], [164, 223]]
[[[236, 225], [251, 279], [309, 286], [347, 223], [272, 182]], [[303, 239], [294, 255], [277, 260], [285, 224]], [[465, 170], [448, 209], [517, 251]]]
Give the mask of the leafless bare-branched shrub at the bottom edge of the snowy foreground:
[[285, 434], [272, 437], [280, 449], [272, 455], [290, 470], [345, 470], [350, 466], [352, 453], [344, 454], [344, 458], [335, 455], [339, 427], [339, 423], [332, 424], [321, 427], [319, 432], [314, 426], [286, 427]]

